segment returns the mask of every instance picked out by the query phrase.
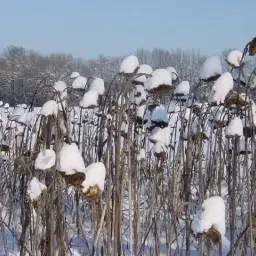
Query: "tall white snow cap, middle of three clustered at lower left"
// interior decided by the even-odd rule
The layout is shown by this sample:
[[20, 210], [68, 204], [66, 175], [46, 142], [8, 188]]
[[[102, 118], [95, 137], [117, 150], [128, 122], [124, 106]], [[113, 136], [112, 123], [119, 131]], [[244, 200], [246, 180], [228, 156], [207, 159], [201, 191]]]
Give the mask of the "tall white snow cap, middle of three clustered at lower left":
[[83, 157], [75, 143], [64, 143], [59, 152], [58, 160], [57, 170], [64, 172], [66, 175], [77, 172], [84, 173], [85, 171]]

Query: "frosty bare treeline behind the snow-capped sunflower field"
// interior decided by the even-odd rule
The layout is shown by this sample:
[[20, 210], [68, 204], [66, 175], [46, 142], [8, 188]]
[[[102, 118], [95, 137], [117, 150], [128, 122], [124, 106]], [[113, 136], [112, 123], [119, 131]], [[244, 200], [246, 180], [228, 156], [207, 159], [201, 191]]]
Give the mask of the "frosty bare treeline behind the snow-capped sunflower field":
[[[192, 86], [197, 82], [199, 68], [206, 57], [198, 51], [179, 49], [138, 49], [134, 54], [140, 63], [150, 64], [153, 68], [175, 67], [180, 78], [188, 80]], [[101, 77], [108, 83], [118, 72], [123, 57], [100, 55], [94, 60], [84, 60], [62, 53], [43, 56], [23, 47], [10, 46], [0, 56], [0, 100], [10, 105], [29, 104], [39, 86], [51, 85], [57, 80], [68, 82], [73, 71], [78, 71], [87, 78]], [[46, 98], [49, 98], [49, 93], [47, 87], [40, 90], [36, 94], [34, 104], [44, 103]]]

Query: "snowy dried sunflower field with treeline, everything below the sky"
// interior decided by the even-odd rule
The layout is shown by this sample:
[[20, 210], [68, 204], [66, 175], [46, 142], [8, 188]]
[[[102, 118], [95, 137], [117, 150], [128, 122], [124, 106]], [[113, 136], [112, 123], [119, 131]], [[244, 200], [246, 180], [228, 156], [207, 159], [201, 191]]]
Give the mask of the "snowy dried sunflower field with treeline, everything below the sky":
[[256, 255], [255, 55], [3, 50], [0, 255]]

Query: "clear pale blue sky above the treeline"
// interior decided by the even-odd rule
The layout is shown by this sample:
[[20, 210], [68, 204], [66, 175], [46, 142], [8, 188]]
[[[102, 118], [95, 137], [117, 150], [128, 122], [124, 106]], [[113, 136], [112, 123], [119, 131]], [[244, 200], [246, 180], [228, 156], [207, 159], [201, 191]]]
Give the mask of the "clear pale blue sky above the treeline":
[[256, 36], [256, 0], [0, 0], [0, 51], [130, 54], [137, 48], [218, 54]]

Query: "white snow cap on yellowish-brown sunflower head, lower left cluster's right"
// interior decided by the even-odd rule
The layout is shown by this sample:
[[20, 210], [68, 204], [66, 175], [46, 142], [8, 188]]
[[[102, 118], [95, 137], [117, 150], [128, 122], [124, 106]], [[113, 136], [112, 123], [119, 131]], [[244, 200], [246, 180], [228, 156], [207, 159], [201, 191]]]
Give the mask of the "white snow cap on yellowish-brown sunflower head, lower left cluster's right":
[[90, 186], [98, 185], [101, 191], [104, 190], [106, 168], [102, 162], [92, 163], [85, 169], [85, 180], [81, 184], [82, 191], [87, 192]]

